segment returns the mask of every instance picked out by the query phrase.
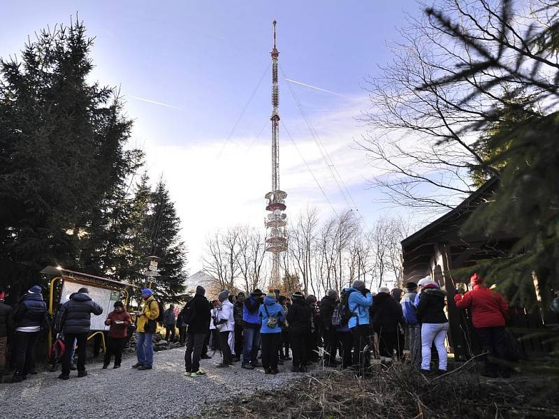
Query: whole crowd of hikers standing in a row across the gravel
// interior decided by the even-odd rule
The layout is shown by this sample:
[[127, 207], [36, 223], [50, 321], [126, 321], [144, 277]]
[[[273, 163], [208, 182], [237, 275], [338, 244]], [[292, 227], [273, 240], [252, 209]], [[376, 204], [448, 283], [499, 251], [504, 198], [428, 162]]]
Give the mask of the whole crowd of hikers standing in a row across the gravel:
[[[458, 308], [471, 312], [474, 330], [488, 355], [484, 374], [507, 377], [509, 372], [500, 362], [504, 358], [507, 302], [486, 288], [478, 274], [472, 276], [471, 285], [472, 291], [459, 288], [454, 302]], [[327, 367], [365, 374], [372, 358], [382, 365], [399, 358], [423, 374], [447, 371], [447, 293], [430, 277], [417, 284], [407, 282], [403, 295], [398, 288], [391, 291], [384, 286], [371, 293], [363, 281], [356, 280], [340, 295], [330, 290], [320, 301], [301, 292], [287, 296], [277, 290], [263, 293], [255, 289], [248, 295], [222, 291], [217, 300], [210, 302], [205, 288], [197, 286], [194, 297], [178, 316], [173, 304], [163, 311], [149, 288], [143, 289], [141, 295], [141, 310], [132, 313], [136, 316], [137, 357], [132, 367], [140, 371], [153, 368], [153, 339], [158, 324], [165, 326], [166, 339], [173, 340], [178, 328], [179, 341], [186, 346], [184, 375], [191, 377], [205, 375], [200, 362], [212, 357], [212, 349], [213, 355], [218, 349], [222, 355], [217, 368], [240, 362], [243, 369], [261, 367], [266, 374], [278, 374], [278, 365], [289, 360], [292, 372], [307, 372], [312, 362], [320, 359]], [[50, 328], [49, 316], [40, 286], [29, 289], [14, 309], [3, 302], [3, 296], [0, 293], [0, 374], [6, 369], [6, 337], [13, 328], [15, 372], [4, 382], [17, 383], [35, 373], [35, 346], [41, 331]], [[54, 322], [54, 332], [64, 345], [59, 378], [68, 379], [75, 369], [78, 377], [87, 376], [85, 348], [91, 315], [102, 313], [87, 288], [80, 288], [59, 306]], [[132, 323], [124, 304], [115, 302], [105, 321], [109, 330], [103, 369], [113, 356], [113, 368], [121, 366]], [[77, 366], [73, 363], [76, 344]], [[437, 367], [432, 369], [433, 346]]]

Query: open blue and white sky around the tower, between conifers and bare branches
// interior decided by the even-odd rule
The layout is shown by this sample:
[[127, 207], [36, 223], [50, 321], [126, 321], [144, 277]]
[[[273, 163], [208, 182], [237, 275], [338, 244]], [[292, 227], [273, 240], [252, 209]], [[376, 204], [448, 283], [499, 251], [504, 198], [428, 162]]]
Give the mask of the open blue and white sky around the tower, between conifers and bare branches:
[[[286, 77], [337, 93], [290, 83], [356, 207], [371, 224], [384, 214], [366, 186], [375, 171], [354, 144], [365, 133], [356, 117], [368, 106], [363, 79], [391, 59], [386, 43], [398, 40], [405, 13], [419, 15], [415, 1], [10, 1], [2, 11], [1, 57], [17, 53], [34, 31], [68, 23], [78, 12], [96, 37], [92, 79], [120, 87], [126, 114], [136, 121], [131, 145], [145, 149], [152, 179], [163, 175], [176, 201], [191, 273], [201, 268], [208, 233], [236, 223], [263, 225], [271, 183], [273, 19]], [[298, 145], [282, 126], [287, 212], [317, 206], [330, 216], [299, 152], [335, 209], [348, 205], [287, 83], [280, 73], [280, 115]]]

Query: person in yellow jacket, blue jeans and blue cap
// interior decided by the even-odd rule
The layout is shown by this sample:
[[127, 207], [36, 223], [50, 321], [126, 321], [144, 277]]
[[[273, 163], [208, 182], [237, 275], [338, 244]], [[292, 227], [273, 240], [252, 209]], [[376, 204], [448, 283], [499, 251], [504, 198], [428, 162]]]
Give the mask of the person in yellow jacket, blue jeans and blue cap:
[[159, 317], [159, 304], [153, 297], [152, 290], [142, 290], [144, 307], [138, 311], [138, 322], [136, 323], [136, 355], [138, 362], [132, 368], [145, 370], [153, 368], [153, 335], [157, 329], [157, 317]]

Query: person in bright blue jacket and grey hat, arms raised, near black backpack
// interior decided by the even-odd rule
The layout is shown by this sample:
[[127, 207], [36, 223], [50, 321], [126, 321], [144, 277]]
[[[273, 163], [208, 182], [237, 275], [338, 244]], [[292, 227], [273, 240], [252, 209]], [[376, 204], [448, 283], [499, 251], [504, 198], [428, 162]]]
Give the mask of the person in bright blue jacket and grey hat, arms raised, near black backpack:
[[347, 288], [347, 292], [347, 307], [351, 314], [347, 325], [354, 337], [354, 368], [362, 371], [370, 365], [369, 308], [372, 307], [372, 295], [365, 288], [365, 282], [359, 279]]

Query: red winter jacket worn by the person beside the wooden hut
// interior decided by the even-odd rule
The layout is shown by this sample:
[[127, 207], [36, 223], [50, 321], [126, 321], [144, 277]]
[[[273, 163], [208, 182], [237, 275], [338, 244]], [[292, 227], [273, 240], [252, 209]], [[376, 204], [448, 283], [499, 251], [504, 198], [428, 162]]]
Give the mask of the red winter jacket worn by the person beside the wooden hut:
[[474, 328], [498, 328], [509, 318], [509, 304], [498, 293], [479, 285], [465, 294], [454, 295], [454, 302], [459, 309], [472, 311]]

